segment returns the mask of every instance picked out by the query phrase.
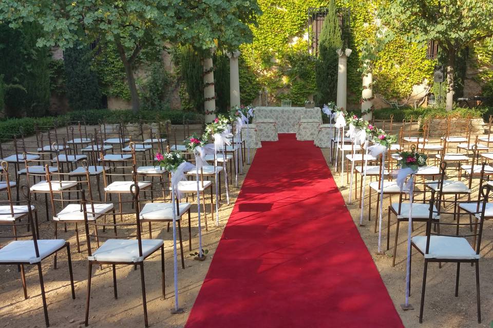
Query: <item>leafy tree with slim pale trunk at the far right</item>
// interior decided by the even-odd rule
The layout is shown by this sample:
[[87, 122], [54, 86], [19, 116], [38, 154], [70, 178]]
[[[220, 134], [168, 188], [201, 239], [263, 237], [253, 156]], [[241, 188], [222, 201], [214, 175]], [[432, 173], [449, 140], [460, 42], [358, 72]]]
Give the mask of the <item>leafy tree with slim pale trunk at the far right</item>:
[[388, 0], [380, 17], [394, 33], [425, 46], [438, 42], [446, 57], [447, 110], [453, 107], [454, 67], [458, 53], [493, 36], [493, 2], [466, 0]]

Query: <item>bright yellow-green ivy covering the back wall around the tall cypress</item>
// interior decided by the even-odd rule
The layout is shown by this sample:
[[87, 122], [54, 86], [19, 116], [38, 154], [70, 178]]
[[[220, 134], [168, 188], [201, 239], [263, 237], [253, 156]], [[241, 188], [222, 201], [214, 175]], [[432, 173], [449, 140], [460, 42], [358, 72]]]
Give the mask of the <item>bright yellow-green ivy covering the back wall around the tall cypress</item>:
[[[301, 105], [315, 91], [314, 61], [308, 56], [308, 8], [327, 7], [329, 1], [258, 0], [263, 14], [258, 27], [252, 27], [253, 44], [243, 45], [245, 63], [255, 72], [261, 87], [267, 88], [272, 100], [289, 98]], [[378, 1], [377, 1], [378, 3]], [[372, 7], [366, 0], [339, 0], [339, 7], [351, 10], [348, 90], [350, 107], [359, 107], [362, 91], [361, 48], [371, 37], [369, 25], [374, 21]], [[379, 4], [376, 4], [378, 6]], [[426, 59], [426, 48], [392, 40], [374, 65], [374, 90], [389, 99], [405, 98], [415, 84], [430, 80], [434, 61]], [[272, 103], [272, 100], [270, 102]]]

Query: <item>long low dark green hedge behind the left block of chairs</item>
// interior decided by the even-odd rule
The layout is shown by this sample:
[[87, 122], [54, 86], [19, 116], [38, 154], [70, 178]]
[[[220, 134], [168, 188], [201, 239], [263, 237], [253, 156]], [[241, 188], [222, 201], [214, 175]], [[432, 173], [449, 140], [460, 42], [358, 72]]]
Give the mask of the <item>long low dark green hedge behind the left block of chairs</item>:
[[183, 111], [140, 111], [134, 114], [131, 110], [87, 110], [73, 111], [65, 115], [49, 117], [25, 117], [10, 118], [0, 121], [0, 140], [10, 139], [13, 135], [24, 136], [33, 135], [36, 125], [49, 126], [56, 122], [56, 125], [63, 127], [69, 121], [85, 121], [86, 125], [98, 125], [100, 121], [131, 123], [143, 120], [170, 120], [172, 124], [182, 124], [184, 119], [198, 120], [202, 114]]

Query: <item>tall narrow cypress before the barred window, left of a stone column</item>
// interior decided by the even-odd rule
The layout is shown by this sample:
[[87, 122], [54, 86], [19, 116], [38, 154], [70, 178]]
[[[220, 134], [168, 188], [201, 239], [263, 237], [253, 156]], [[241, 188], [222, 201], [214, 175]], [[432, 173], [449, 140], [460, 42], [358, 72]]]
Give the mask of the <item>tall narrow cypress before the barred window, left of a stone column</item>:
[[337, 95], [337, 53], [343, 46], [337, 7], [331, 0], [327, 16], [320, 31], [318, 59], [315, 65], [317, 93], [315, 101], [319, 104], [335, 101]]

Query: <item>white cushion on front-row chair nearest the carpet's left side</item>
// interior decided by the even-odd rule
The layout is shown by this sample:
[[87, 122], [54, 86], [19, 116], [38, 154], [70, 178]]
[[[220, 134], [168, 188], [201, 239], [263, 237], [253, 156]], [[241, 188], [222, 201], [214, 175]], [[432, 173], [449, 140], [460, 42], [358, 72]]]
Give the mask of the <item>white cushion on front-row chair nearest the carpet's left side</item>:
[[162, 239], [142, 239], [142, 257], [139, 257], [137, 239], [108, 239], [87, 258], [89, 261], [101, 262], [140, 262], [159, 249], [162, 244]]

